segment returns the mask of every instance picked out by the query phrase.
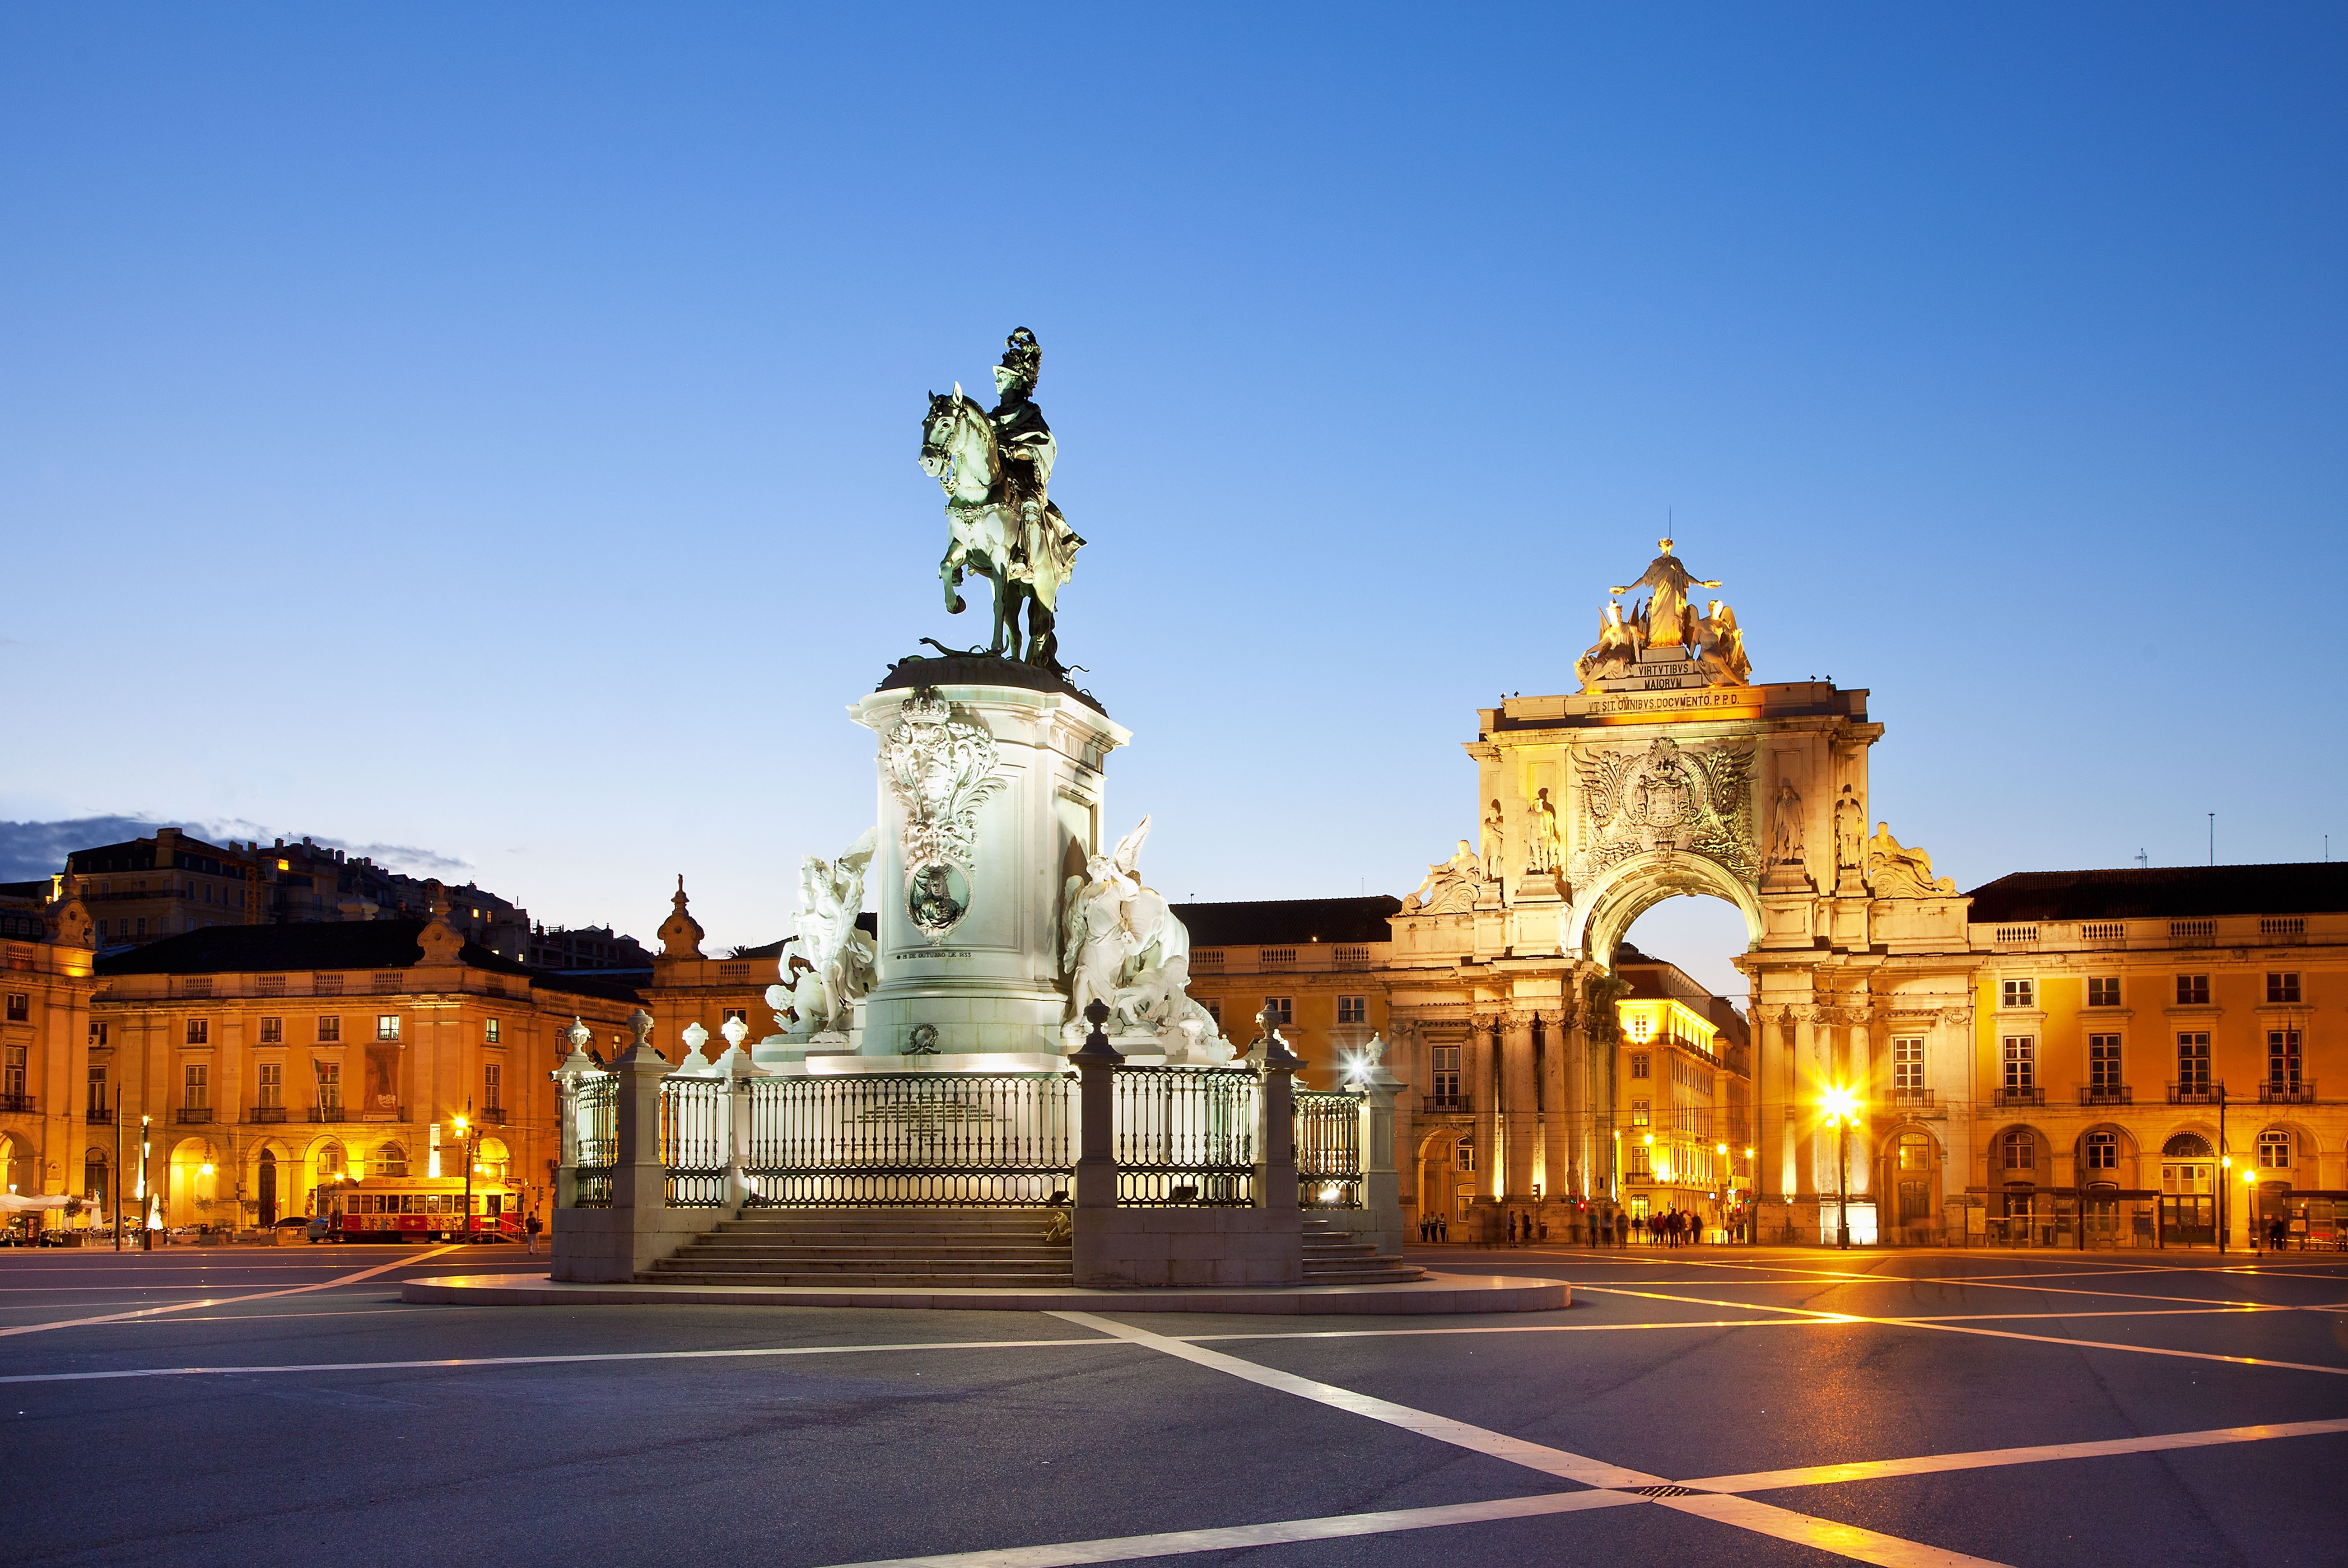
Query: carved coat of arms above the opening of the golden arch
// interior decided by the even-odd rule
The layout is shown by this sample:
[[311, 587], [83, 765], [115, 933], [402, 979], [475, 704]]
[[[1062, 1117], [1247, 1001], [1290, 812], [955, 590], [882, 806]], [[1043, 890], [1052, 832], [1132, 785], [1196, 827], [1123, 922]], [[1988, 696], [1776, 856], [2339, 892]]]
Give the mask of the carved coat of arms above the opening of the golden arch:
[[1587, 883], [1651, 850], [1702, 854], [1752, 880], [1752, 746], [1684, 751], [1674, 739], [1576, 758], [1580, 843], [1573, 880]]

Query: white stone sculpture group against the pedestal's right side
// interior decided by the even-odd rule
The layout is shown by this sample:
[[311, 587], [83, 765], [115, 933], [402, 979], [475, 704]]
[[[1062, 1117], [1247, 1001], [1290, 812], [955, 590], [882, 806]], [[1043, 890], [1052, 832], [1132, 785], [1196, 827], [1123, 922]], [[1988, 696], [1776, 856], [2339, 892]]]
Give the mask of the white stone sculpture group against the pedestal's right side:
[[1228, 1061], [1214, 1014], [1190, 1000], [1190, 932], [1136, 873], [1151, 819], [1111, 854], [1085, 861], [1061, 887], [1061, 969], [1068, 974], [1068, 1040], [1085, 1009], [1108, 1007], [1113, 1030], [1158, 1035], [1167, 1059]]

